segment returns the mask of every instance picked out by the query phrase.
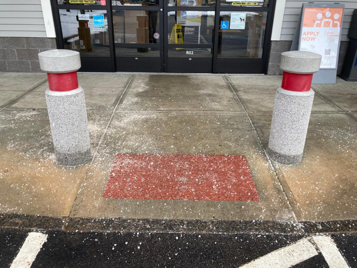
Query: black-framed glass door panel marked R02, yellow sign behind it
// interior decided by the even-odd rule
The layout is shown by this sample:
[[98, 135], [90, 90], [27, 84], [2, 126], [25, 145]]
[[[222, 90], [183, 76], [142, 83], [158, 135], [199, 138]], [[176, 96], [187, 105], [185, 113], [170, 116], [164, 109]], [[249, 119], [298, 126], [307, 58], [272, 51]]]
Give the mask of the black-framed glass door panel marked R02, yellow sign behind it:
[[211, 73], [214, 26], [215, 11], [168, 11], [167, 71]]

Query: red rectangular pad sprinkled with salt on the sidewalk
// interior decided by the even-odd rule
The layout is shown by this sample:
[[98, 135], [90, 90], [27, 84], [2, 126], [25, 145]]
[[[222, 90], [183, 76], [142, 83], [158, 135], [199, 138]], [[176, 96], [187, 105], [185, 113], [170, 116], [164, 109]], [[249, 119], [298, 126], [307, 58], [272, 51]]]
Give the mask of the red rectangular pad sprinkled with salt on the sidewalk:
[[244, 155], [117, 154], [103, 197], [257, 201]]

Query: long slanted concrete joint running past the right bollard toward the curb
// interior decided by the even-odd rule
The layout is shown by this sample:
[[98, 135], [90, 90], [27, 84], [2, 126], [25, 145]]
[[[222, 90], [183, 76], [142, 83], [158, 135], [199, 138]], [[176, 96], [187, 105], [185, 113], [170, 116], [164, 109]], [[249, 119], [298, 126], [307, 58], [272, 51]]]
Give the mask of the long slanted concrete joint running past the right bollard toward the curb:
[[[274, 174], [275, 174], [275, 177], [276, 177], [277, 180], [278, 180], [278, 183], [279, 183], [279, 185], [280, 185], [280, 188], [281, 188], [281, 190], [282, 190], [282, 193], [283, 193], [283, 195], [284, 195], [284, 197], [285, 197], [285, 199], [286, 199], [286, 202], [287, 202], [287, 204], [288, 204], [288, 206], [289, 206], [289, 208], [290, 208], [290, 210], [291, 210], [292, 217], [294, 218], [295, 222], [298, 222], [298, 219], [297, 219], [297, 217], [296, 217], [296, 214], [295, 214], [295, 211], [294, 211], [294, 209], [293, 209], [293, 206], [291, 205], [290, 199], [288, 198], [288, 195], [287, 195], [286, 191], [284, 190], [283, 184], [282, 184], [282, 182], [281, 182], [281, 180], [280, 180], [280, 178], [279, 178], [279, 176], [278, 176], [278, 173], [277, 173], [276, 169], [274, 168], [273, 164], [272, 164], [271, 161], [270, 161], [270, 158], [268, 157], [268, 153], [267, 153], [266, 149], [265, 149], [264, 146], [263, 146], [263, 143], [262, 143], [261, 138], [260, 138], [260, 136], [259, 136], [259, 134], [258, 134], [257, 128], [256, 128], [256, 126], [253, 124], [253, 121], [252, 121], [252, 119], [250, 118], [250, 116], [249, 116], [249, 114], [248, 114], [248, 112], [247, 112], [246, 105], [243, 103], [242, 98], [240, 97], [240, 94], [239, 94], [238, 89], [237, 89], [236, 86], [232, 83], [232, 81], [230, 80], [230, 78], [229, 78], [227, 75], [223, 75], [223, 80], [226, 81], [226, 84], [227, 84], [228, 89], [229, 89], [230, 91], [232, 91], [233, 94], [236, 95], [238, 102], [239, 102], [240, 105], [242, 106], [242, 108], [243, 108], [243, 110], [244, 110], [244, 112], [245, 112], [245, 114], [246, 114], [246, 116], [247, 116], [247, 118], [248, 118], [248, 120], [249, 120], [249, 122], [250, 122], [250, 125], [252, 126], [253, 131], [255, 132], [255, 135], [256, 135], [256, 137], [257, 137], [257, 140], [258, 140], [258, 142], [259, 142], [259, 144], [260, 144], [260, 146], [261, 146], [261, 148], [262, 148], [262, 150], [263, 150], [263, 152], [264, 152], [264, 154], [265, 154], [265, 157], [267, 158], [267, 161], [268, 161], [268, 163], [270, 164], [270, 167], [271, 167], [271, 169], [273, 170], [273, 172], [274, 172]], [[289, 188], [289, 191], [288, 191], [288, 192], [291, 192], [290, 188]]]

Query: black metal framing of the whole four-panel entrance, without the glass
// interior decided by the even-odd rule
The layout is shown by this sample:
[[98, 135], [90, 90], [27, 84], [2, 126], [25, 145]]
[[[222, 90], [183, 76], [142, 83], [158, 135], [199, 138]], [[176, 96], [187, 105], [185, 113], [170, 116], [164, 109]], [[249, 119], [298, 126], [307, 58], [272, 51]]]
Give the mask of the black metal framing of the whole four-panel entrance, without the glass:
[[[96, 72], [115, 72], [115, 71], [129, 71], [129, 72], [170, 72], [170, 67], [168, 63], [173, 63], [176, 61], [178, 68], [182, 69], [182, 72], [196, 72], [197, 65], [207, 66], [207, 59], [211, 63], [211, 71], [203, 71], [208, 73], [230, 73], [225, 70], [224, 66], [229, 66], [229, 70], [233, 70], [232, 73], [267, 73], [268, 69], [268, 59], [270, 55], [270, 45], [271, 45], [271, 30], [273, 26], [273, 16], [275, 11], [276, 0], [270, 0], [267, 7], [226, 7], [220, 5], [220, 0], [216, 1], [216, 6], [167, 6], [166, 0], [160, 0], [158, 6], [112, 6], [111, 0], [106, 0], [106, 6], [101, 5], [90, 5], [91, 10], [106, 10], [107, 20], [108, 20], [108, 34], [109, 34], [109, 57], [88, 57], [81, 56], [82, 68], [79, 71], [96, 71]], [[57, 48], [64, 49], [64, 42], [62, 37], [62, 29], [60, 23], [60, 9], [84, 9], [84, 5], [58, 5], [57, 0], [51, 0], [52, 13], [55, 22], [56, 31], [56, 44]], [[85, 6], [86, 8], [88, 7]], [[137, 48], [138, 44], [125, 44], [125, 43], [114, 43], [114, 29], [113, 29], [113, 18], [112, 10], [155, 10], [159, 12], [160, 20], [160, 44], [140, 44], [140, 47], [150, 48], [157, 47], [160, 48], [160, 56], [157, 58], [153, 57], [116, 57], [115, 47], [124, 48]], [[168, 48], [177, 47], [175, 44], [167, 44], [167, 34], [168, 34], [168, 11], [215, 11], [215, 28], [213, 36], [213, 44], [182, 44], [182, 48], [212, 48], [212, 58], [193, 58], [190, 65], [187, 65], [187, 58], [169, 58]], [[263, 53], [262, 58], [217, 58], [218, 51], [218, 32], [219, 32], [219, 21], [221, 11], [252, 11], [252, 12], [267, 12], [267, 21], [265, 27], [264, 43], [263, 43]], [[166, 27], [165, 27], [166, 26]], [[120, 62], [117, 58], [132, 58], [135, 60], [125, 59], [125, 68], [121, 68]], [[101, 66], [100, 69], [95, 68], [91, 64], [91, 61], [95, 59], [97, 65]], [[150, 64], [159, 66], [152, 70], [148, 69], [146, 66]], [[123, 59], [124, 60], [124, 59]], [[223, 66], [223, 67], [222, 67]], [[232, 68], [235, 66], [235, 68]], [[145, 68], [145, 69], [143, 69]], [[185, 69], [184, 69], [185, 68]], [[172, 68], [171, 68], [172, 69]], [[179, 72], [179, 71], [175, 71]], [[199, 72], [199, 71], [198, 71]]]

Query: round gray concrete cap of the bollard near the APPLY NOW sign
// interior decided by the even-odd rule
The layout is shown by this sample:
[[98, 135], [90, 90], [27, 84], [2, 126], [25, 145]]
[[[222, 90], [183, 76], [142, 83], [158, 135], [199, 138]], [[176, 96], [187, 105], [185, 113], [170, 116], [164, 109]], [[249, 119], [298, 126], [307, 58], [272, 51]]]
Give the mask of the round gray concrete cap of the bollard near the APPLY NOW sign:
[[313, 74], [320, 70], [321, 55], [310, 51], [281, 53], [280, 69], [293, 74]]

